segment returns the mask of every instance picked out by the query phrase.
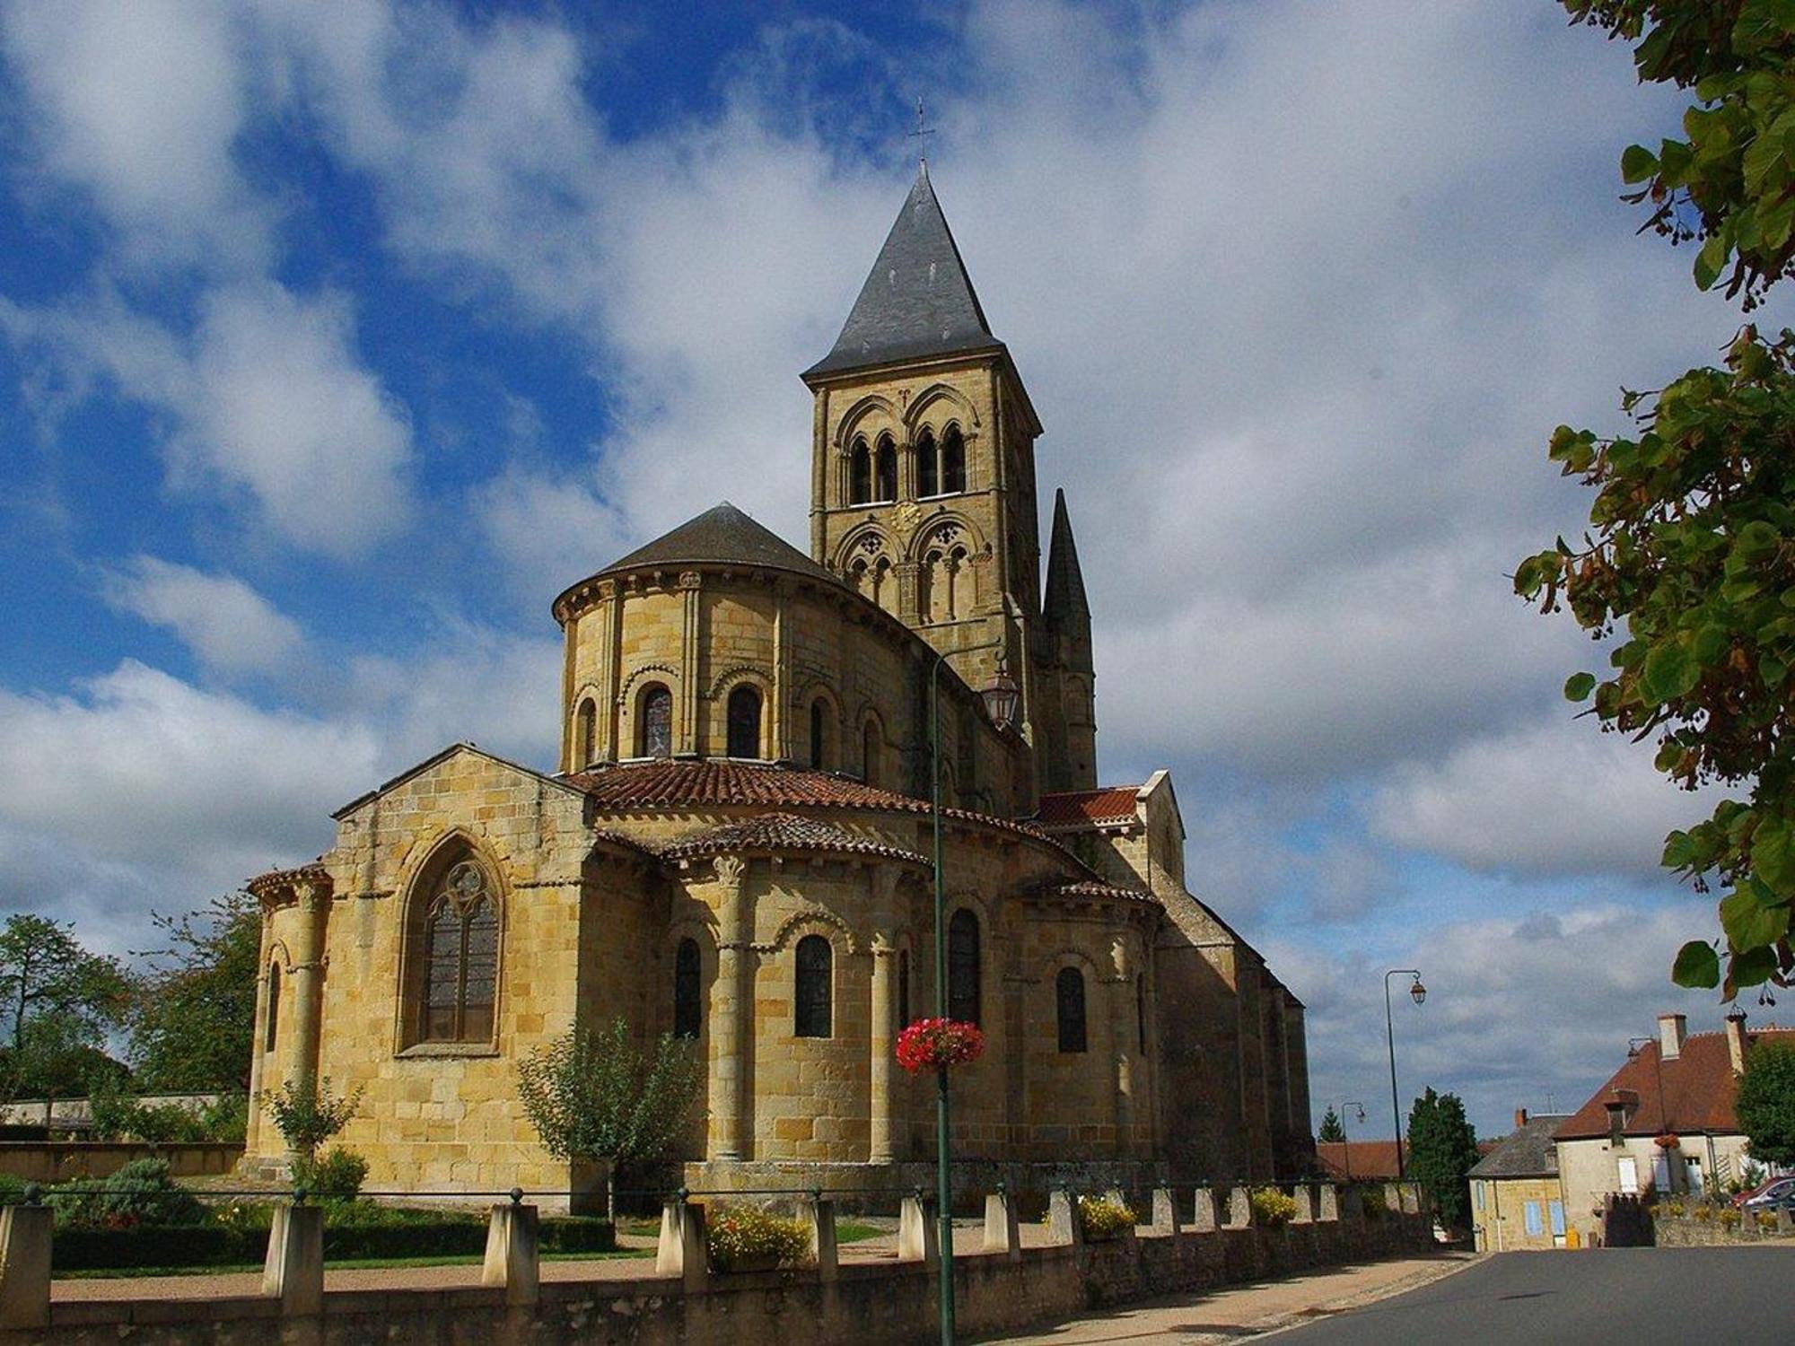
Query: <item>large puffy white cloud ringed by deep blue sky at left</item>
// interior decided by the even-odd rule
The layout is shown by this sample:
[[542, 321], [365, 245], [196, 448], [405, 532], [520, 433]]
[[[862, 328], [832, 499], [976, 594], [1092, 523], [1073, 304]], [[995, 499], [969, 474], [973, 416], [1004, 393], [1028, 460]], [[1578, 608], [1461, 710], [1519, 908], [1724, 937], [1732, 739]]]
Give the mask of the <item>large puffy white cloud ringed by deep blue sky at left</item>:
[[242, 501], [293, 546], [350, 556], [409, 520], [409, 420], [357, 359], [343, 294], [221, 285], [190, 339], [108, 294], [59, 309], [0, 298], [0, 330], [77, 382], [104, 377], [172, 415], [171, 481]]

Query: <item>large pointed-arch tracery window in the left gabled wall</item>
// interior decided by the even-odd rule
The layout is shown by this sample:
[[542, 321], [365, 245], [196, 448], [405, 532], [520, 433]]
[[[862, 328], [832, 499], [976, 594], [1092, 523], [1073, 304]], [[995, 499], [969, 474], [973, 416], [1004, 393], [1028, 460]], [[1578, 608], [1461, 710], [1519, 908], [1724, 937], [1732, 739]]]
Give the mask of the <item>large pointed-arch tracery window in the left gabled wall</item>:
[[449, 870], [425, 910], [422, 983], [422, 1041], [492, 1041], [499, 987], [499, 910], [485, 872], [470, 860]]

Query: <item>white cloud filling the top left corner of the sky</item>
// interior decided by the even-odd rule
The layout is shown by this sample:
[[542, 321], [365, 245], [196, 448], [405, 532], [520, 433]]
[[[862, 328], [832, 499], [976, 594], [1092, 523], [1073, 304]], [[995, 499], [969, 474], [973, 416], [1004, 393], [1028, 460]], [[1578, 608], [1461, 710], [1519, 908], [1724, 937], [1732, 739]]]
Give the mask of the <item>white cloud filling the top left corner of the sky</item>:
[[233, 163], [250, 108], [228, 9], [16, 0], [0, 23], [41, 165], [93, 196], [129, 262], [266, 260], [273, 212]]

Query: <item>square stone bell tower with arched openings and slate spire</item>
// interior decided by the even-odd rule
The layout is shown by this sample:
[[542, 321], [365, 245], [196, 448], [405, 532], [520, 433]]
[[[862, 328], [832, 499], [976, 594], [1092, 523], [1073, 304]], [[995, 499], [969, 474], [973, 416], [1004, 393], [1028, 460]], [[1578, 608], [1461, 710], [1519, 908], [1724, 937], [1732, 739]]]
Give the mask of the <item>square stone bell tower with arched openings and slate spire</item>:
[[835, 348], [804, 382], [815, 397], [811, 558], [948, 653], [969, 686], [985, 686], [1002, 653], [1021, 686], [1018, 723], [1041, 788], [1079, 788], [1054, 779], [1043, 756], [1048, 739], [1063, 741], [1064, 698], [1038, 677], [1052, 644], [1034, 476], [1041, 422], [991, 334], [926, 163]]

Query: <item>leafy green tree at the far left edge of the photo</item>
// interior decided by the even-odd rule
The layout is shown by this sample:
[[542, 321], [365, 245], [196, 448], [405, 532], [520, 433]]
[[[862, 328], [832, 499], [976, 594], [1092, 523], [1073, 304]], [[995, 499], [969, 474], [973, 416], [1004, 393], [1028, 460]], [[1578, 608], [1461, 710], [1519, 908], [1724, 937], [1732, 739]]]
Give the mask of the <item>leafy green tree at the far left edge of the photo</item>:
[[131, 978], [70, 931], [23, 912], [0, 926], [0, 1098], [84, 1093], [95, 1073], [115, 1073], [101, 1048], [124, 1019]]

